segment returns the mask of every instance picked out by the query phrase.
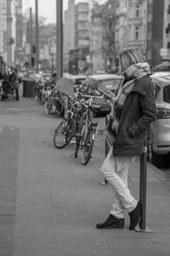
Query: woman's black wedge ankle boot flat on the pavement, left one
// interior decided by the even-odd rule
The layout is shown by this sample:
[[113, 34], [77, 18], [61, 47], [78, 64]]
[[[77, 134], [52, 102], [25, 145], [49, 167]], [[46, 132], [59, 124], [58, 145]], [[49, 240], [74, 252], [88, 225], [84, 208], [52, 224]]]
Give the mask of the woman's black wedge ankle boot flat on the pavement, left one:
[[111, 215], [105, 220], [104, 223], [96, 224], [97, 229], [123, 229], [124, 228], [124, 218], [116, 218]]

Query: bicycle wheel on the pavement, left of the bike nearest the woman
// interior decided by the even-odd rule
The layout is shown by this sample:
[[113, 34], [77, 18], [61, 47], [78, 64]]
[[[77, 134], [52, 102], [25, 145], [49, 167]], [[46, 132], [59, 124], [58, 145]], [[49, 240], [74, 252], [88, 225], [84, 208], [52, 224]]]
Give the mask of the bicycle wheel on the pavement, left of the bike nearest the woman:
[[63, 119], [54, 131], [55, 148], [64, 148], [75, 136], [76, 122], [74, 119]]

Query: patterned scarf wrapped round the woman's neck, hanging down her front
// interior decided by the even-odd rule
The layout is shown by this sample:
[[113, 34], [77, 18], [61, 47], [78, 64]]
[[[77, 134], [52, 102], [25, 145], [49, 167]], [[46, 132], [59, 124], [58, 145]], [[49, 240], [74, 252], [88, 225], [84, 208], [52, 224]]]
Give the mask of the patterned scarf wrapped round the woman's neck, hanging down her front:
[[114, 119], [112, 123], [113, 131], [117, 131], [119, 126], [119, 121], [122, 114], [122, 107], [127, 98], [127, 95], [133, 89], [133, 86], [136, 80], [150, 74], [150, 66], [147, 62], [133, 64], [130, 67], [127, 67], [126, 71], [123, 73], [125, 79], [122, 81], [121, 86], [117, 92], [117, 96], [113, 99], [114, 101], [114, 110], [112, 117]]

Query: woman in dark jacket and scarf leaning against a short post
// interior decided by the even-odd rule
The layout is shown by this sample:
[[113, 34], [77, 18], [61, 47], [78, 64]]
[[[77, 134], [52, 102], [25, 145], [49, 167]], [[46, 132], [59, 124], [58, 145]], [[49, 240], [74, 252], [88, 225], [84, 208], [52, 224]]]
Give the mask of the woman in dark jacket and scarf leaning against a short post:
[[125, 79], [113, 99], [111, 130], [115, 140], [101, 167], [113, 189], [113, 205], [109, 217], [97, 224], [97, 229], [122, 229], [124, 210], [130, 217], [129, 230], [139, 224], [140, 203], [127, 188], [127, 172], [132, 157], [143, 153], [150, 123], [156, 119], [150, 66], [144, 56], [137, 49], [127, 49], [120, 55], [120, 63]]

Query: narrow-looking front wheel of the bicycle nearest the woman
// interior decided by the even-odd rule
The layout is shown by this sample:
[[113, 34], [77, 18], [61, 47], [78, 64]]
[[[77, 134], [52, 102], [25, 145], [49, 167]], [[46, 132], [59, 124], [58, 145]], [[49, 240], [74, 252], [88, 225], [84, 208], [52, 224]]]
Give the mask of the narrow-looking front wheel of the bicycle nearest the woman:
[[94, 147], [95, 131], [90, 128], [82, 145], [82, 165], [87, 165]]

